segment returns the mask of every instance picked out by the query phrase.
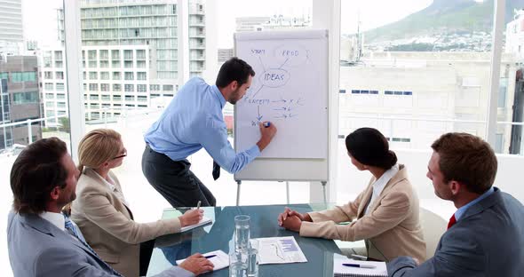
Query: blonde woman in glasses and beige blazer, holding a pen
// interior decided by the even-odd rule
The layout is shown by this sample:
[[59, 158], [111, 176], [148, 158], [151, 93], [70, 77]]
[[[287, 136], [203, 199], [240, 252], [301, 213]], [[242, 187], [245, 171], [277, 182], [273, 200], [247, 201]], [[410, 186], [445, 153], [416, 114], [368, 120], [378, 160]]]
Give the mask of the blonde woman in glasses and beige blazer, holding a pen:
[[[111, 169], [120, 166], [126, 156], [120, 134], [98, 129], [89, 132], [78, 146], [82, 172], [76, 185], [76, 200], [71, 218], [85, 240], [99, 256], [124, 276], [139, 276], [140, 243], [168, 233], [178, 233], [182, 226], [202, 219], [202, 210], [190, 210], [179, 218], [137, 223], [126, 202], [122, 186]], [[212, 264], [196, 254], [182, 264], [180, 276], [210, 270]]]

